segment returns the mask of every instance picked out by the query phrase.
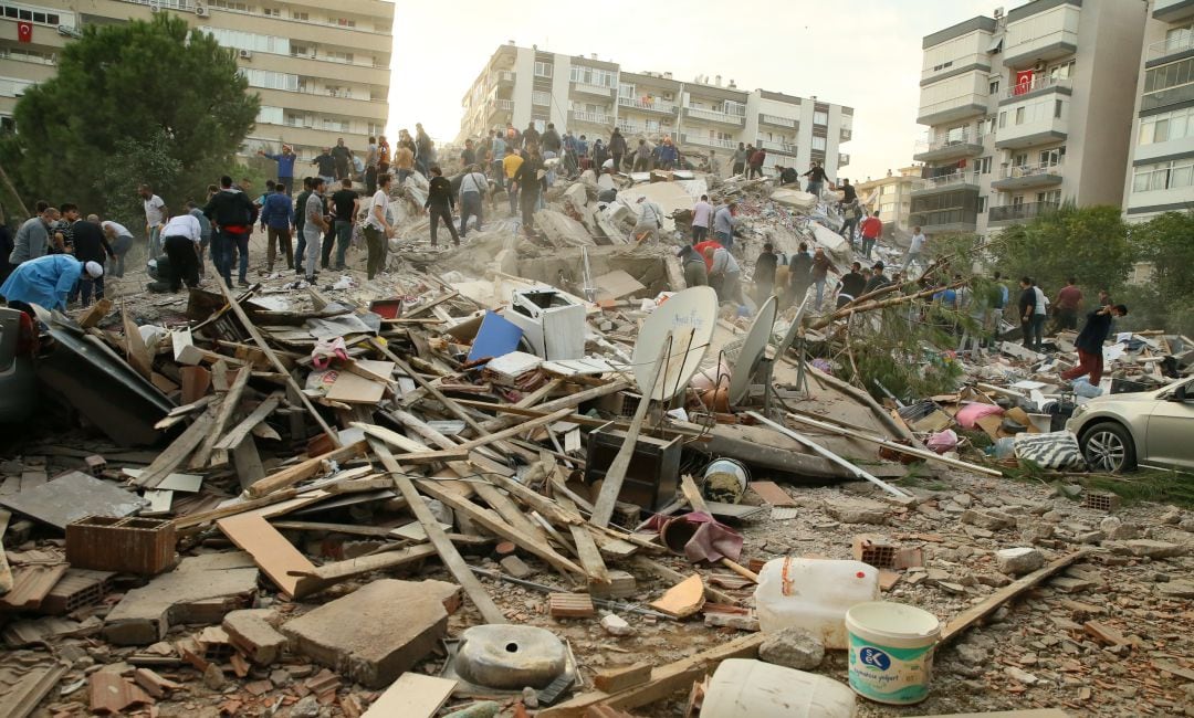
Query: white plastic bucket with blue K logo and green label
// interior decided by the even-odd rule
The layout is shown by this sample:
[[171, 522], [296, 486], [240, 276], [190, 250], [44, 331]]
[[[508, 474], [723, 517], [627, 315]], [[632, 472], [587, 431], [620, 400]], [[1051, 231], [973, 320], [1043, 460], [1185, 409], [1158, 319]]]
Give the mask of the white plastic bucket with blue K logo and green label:
[[850, 687], [878, 702], [905, 705], [929, 697], [933, 649], [941, 621], [903, 604], [868, 601], [845, 612]]

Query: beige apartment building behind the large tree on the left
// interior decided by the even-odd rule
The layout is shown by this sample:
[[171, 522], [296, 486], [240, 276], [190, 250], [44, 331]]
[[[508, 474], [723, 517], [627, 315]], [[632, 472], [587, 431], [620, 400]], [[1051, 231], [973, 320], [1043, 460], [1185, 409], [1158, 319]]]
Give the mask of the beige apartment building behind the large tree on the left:
[[[246, 154], [277, 151], [287, 142], [310, 157], [339, 137], [363, 151], [369, 135], [384, 132], [394, 25], [388, 0], [0, 0], [0, 120], [12, 122], [26, 87], [54, 76], [59, 51], [85, 25], [159, 12], [236, 50], [240, 72], [261, 98]], [[32, 26], [29, 37], [19, 33], [23, 23]]]

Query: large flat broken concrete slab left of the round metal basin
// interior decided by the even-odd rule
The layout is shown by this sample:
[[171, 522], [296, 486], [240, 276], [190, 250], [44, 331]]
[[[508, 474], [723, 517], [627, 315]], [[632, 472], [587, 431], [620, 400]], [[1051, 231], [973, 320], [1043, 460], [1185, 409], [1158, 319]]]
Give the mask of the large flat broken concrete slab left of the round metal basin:
[[374, 581], [287, 623], [282, 632], [293, 651], [380, 689], [435, 649], [460, 590], [443, 581]]

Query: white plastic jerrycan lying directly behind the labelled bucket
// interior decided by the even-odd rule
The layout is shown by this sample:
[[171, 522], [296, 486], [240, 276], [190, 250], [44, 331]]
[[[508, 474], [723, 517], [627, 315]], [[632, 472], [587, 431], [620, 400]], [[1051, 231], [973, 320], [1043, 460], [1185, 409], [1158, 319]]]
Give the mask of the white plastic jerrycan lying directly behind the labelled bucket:
[[763, 564], [755, 609], [764, 633], [798, 626], [825, 648], [845, 649], [845, 612], [879, 600], [879, 569], [860, 561], [775, 558]]

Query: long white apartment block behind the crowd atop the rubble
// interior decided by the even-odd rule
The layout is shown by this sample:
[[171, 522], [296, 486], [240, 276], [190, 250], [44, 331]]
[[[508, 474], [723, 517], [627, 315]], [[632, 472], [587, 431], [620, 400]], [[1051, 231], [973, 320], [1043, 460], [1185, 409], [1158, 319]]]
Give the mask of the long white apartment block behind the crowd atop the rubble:
[[458, 141], [494, 128], [554, 123], [589, 140], [615, 126], [628, 140], [671, 136], [700, 154], [728, 160], [739, 142], [767, 148], [767, 167], [821, 161], [836, 178], [850, 156], [841, 151], [854, 132], [854, 110], [765, 89], [743, 89], [721, 76], [685, 82], [671, 73], [632, 73], [596, 56], [561, 55], [501, 45], [461, 101]]

